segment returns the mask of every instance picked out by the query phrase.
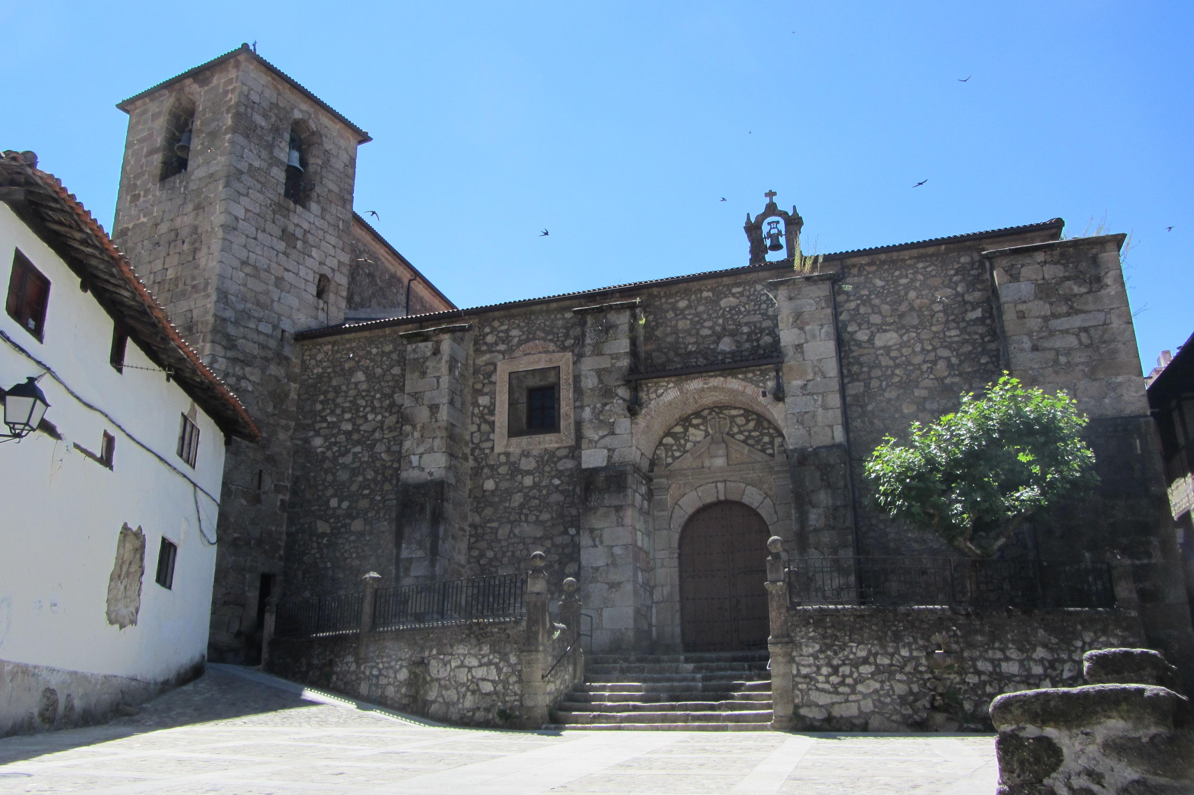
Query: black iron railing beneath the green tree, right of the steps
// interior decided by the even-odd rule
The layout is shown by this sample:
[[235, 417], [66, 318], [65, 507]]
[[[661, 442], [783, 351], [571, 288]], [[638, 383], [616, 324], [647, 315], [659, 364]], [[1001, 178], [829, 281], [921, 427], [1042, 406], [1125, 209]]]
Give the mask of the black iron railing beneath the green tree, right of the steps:
[[953, 557], [798, 557], [793, 605], [1113, 608], [1107, 563]]

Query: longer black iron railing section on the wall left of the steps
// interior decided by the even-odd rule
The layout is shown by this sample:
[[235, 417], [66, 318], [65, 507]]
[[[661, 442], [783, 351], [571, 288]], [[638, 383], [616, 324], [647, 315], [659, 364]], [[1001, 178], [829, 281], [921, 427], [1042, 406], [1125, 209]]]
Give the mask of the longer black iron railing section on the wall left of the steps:
[[525, 596], [525, 573], [381, 588], [374, 602], [374, 628], [515, 618], [527, 612]]

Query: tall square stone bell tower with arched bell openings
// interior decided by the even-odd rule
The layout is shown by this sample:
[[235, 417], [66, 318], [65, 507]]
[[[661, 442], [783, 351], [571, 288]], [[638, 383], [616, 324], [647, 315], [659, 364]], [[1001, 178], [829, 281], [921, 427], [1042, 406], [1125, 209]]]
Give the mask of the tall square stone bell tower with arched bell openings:
[[209, 657], [252, 662], [278, 592], [298, 351], [344, 318], [369, 135], [247, 44], [131, 97], [113, 238], [260, 444], [229, 442]]

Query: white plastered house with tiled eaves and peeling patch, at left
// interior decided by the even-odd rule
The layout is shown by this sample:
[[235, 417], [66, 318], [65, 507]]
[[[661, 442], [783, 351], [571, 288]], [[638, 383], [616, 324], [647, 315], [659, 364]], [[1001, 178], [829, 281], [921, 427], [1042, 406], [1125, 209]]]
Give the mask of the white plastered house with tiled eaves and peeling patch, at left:
[[49, 402], [0, 439], [0, 737], [103, 721], [203, 671], [224, 443], [257, 438], [35, 166], [0, 160], [0, 389], [39, 377]]

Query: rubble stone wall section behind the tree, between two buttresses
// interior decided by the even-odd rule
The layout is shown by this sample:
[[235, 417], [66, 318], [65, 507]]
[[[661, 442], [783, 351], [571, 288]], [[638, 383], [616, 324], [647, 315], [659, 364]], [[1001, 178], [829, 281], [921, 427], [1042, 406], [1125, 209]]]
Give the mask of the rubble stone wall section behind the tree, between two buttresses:
[[[954, 411], [959, 395], [1001, 374], [999, 333], [986, 265], [974, 251], [927, 248], [844, 264], [837, 285], [850, 458], [860, 505], [870, 489], [862, 464], [913, 421]], [[941, 554], [934, 536], [912, 534], [863, 507], [861, 555]]]

